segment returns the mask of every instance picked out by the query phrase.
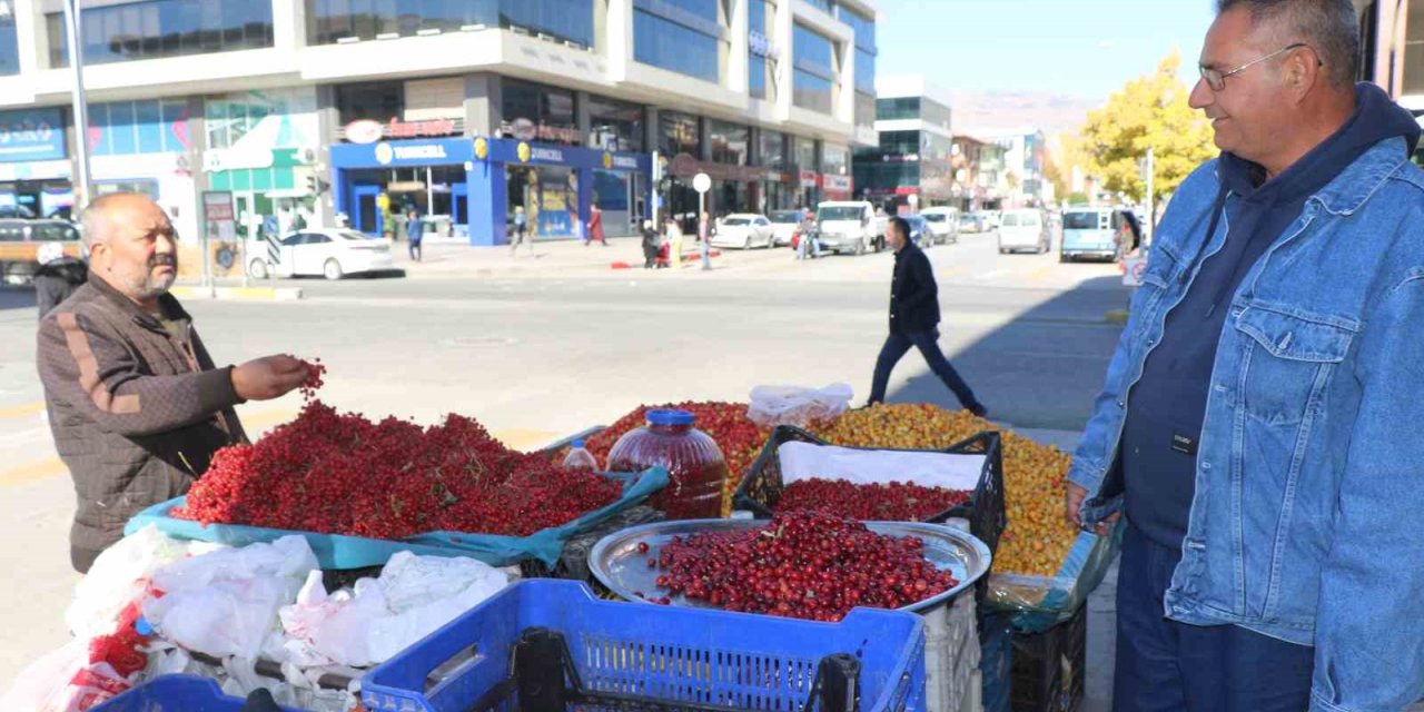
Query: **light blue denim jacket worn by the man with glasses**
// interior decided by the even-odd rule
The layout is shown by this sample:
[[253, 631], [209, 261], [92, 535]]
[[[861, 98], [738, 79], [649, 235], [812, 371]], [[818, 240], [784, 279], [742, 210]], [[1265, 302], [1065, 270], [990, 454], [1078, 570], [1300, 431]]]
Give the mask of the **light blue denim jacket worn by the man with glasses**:
[[[1314, 645], [1312, 711], [1424, 696], [1424, 172], [1404, 155], [1381, 141], [1312, 195], [1233, 296], [1165, 600], [1175, 621]], [[1126, 394], [1230, 228], [1205, 235], [1215, 168], [1158, 226], [1074, 456], [1085, 524], [1122, 504]]]

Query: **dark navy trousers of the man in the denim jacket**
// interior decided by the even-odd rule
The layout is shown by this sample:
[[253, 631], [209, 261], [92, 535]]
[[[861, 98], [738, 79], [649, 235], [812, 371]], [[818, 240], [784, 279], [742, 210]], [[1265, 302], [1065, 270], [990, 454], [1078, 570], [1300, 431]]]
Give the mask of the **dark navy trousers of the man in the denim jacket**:
[[1237, 625], [1190, 625], [1163, 614], [1182, 553], [1128, 527], [1118, 570], [1114, 712], [1302, 712], [1316, 649]]

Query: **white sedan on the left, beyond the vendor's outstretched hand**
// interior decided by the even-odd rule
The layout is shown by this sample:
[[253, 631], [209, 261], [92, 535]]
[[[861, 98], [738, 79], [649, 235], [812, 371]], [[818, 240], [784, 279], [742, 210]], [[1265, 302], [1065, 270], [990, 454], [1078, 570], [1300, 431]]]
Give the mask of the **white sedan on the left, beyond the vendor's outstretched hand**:
[[256, 279], [272, 276], [325, 276], [386, 272], [396, 269], [390, 241], [343, 228], [312, 228], [279, 241], [276, 262], [268, 242], [248, 246], [248, 271]]

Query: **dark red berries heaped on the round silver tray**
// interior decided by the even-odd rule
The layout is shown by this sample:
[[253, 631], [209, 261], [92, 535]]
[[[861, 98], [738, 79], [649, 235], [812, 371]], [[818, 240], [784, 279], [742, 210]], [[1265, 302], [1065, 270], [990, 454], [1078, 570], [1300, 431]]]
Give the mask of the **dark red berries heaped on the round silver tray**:
[[924, 540], [876, 534], [826, 511], [675, 537], [648, 561], [662, 571], [661, 598], [649, 601], [682, 594], [728, 611], [815, 621], [839, 621], [857, 605], [901, 608], [958, 584], [924, 558]]

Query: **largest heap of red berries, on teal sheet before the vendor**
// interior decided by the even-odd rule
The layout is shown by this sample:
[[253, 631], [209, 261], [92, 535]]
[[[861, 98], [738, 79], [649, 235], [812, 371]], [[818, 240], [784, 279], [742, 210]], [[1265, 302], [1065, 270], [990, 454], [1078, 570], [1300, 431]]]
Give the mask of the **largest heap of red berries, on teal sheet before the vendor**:
[[614, 480], [510, 450], [468, 417], [373, 423], [312, 400], [258, 443], [214, 454], [174, 515], [386, 540], [437, 530], [524, 537], [621, 491]]

